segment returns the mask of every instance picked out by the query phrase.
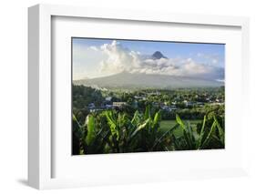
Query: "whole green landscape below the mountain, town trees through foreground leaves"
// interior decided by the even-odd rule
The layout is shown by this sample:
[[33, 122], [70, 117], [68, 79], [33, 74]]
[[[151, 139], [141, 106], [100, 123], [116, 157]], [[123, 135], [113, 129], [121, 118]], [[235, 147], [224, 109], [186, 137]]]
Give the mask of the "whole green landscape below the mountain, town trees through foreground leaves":
[[73, 86], [73, 154], [224, 148], [224, 88]]

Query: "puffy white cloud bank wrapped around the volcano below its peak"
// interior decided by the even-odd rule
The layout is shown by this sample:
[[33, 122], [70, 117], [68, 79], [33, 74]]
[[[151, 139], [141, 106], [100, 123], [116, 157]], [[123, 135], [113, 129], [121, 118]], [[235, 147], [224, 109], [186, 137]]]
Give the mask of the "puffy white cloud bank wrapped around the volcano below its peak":
[[204, 79], [224, 79], [224, 69], [212, 66], [218, 59], [211, 59], [209, 64], [197, 63], [192, 58], [154, 58], [122, 46], [118, 41], [102, 46], [90, 46], [94, 51], [103, 52], [107, 57], [100, 62], [100, 73], [104, 75], [121, 72], [196, 77]]

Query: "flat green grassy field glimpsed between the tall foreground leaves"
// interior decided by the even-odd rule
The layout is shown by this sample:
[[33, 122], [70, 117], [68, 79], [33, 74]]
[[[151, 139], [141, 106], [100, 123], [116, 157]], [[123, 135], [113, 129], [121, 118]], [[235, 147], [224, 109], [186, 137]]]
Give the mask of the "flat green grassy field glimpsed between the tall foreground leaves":
[[[183, 122], [189, 122], [191, 127], [195, 129], [197, 127], [197, 124], [201, 122], [201, 120], [183, 120]], [[168, 130], [169, 128], [173, 128], [176, 125], [176, 120], [162, 120], [160, 123], [160, 128], [163, 131]], [[182, 130], [181, 128], [177, 128], [175, 131], [173, 131], [176, 138], [179, 138], [182, 136]]]

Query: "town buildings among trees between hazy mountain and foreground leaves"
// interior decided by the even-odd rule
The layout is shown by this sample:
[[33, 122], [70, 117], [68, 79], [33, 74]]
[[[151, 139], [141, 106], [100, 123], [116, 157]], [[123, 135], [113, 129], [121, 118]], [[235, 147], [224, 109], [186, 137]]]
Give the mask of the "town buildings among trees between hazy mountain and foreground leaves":
[[210, 107], [224, 107], [224, 87], [124, 91], [73, 86], [73, 107], [75, 111], [83, 110], [86, 115], [110, 109], [127, 110], [133, 114], [136, 110], [143, 112], [148, 105], [161, 110], [164, 119], [172, 119], [176, 113], [182, 117], [186, 112], [201, 112], [195, 114], [198, 117], [194, 115], [199, 119]]

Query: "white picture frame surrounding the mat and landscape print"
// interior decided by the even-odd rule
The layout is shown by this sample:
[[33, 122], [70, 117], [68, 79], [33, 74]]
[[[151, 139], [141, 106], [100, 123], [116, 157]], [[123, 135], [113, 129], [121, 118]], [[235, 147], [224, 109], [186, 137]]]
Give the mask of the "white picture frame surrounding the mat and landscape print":
[[[122, 175], [113, 175], [116, 179], [100, 174], [93, 179], [79, 178], [53, 178], [53, 168], [56, 152], [53, 151], [54, 139], [52, 138], [52, 18], [79, 17], [92, 19], [108, 19], [122, 21], [139, 21], [152, 24], [182, 24], [184, 26], [230, 26], [241, 29], [241, 87], [242, 113], [246, 111], [249, 87], [249, 19], [246, 17], [220, 16], [220, 15], [183, 15], [170, 13], [138, 12], [132, 10], [110, 10], [91, 7], [77, 7], [67, 5], [35, 5], [28, 9], [28, 183], [36, 189], [56, 189], [69, 187], [83, 187], [90, 185], [126, 184], [130, 182], [150, 182], [169, 179], [196, 179], [212, 177], [230, 177], [246, 175], [247, 150], [246, 128], [242, 128], [243, 147], [238, 153], [241, 162], [235, 167], [227, 168], [199, 168], [163, 172], [154, 168], [151, 172], [121, 178]], [[57, 150], [56, 150], [57, 151]], [[225, 153], [223, 153], [225, 154]], [[138, 158], [154, 159], [158, 156], [165, 158], [167, 155], [137, 154]], [[121, 155], [116, 159], [122, 158]], [[126, 156], [125, 158], [129, 158]], [[129, 159], [133, 159], [132, 157]], [[70, 167], [67, 167], [70, 168]], [[147, 168], [145, 168], [146, 170]], [[169, 173], [171, 172], [171, 173]], [[140, 172], [139, 172], [140, 173]], [[115, 177], [116, 176], [116, 177]], [[119, 176], [119, 177], [118, 177]]]

